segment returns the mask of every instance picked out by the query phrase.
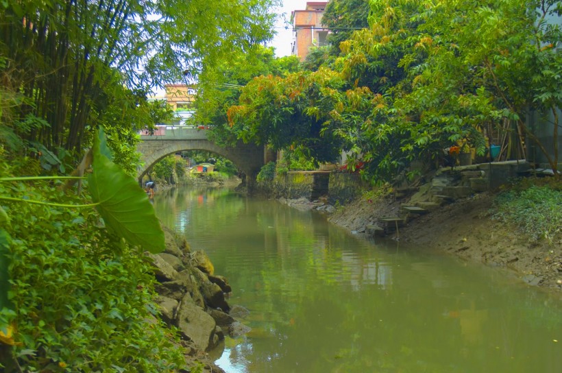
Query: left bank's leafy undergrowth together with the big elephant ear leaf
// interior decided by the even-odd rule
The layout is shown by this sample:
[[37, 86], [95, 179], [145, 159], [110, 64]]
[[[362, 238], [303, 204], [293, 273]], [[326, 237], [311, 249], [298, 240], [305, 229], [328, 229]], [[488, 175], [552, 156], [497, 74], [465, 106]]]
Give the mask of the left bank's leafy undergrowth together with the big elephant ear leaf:
[[12, 177], [36, 160], [0, 162], [0, 331], [12, 346], [0, 344], [5, 372], [184, 366], [173, 332], [156, 318], [143, 254], [162, 251], [164, 234], [145, 193], [111, 158], [100, 131], [91, 204], [64, 192], [60, 178]]

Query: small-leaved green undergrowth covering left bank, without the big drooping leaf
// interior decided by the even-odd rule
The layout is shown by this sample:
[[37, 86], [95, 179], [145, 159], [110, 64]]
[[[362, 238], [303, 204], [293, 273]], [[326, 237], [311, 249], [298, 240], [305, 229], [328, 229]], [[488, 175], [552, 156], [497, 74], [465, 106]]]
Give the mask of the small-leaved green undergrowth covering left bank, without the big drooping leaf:
[[[79, 203], [44, 182], [0, 183], [2, 195]], [[182, 366], [154, 318], [154, 276], [142, 252], [99, 224], [92, 209], [3, 204], [11, 217], [10, 298], [21, 346], [3, 349], [25, 372], [162, 372]], [[5, 372], [15, 371], [6, 370]]]

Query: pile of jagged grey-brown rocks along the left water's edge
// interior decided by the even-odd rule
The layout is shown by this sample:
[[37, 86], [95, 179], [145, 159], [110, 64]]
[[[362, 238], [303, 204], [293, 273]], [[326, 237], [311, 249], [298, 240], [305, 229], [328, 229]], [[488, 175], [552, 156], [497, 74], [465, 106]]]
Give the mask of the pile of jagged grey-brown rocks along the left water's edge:
[[[228, 280], [215, 274], [208, 256], [191, 250], [186, 240], [164, 228], [166, 250], [151, 255], [154, 263], [157, 304], [162, 321], [178, 328], [190, 370], [221, 373], [207, 352], [216, 350], [225, 335], [239, 337], [249, 328], [237, 321], [248, 311], [230, 306], [225, 297], [232, 291]], [[197, 370], [195, 370], [197, 371]]]

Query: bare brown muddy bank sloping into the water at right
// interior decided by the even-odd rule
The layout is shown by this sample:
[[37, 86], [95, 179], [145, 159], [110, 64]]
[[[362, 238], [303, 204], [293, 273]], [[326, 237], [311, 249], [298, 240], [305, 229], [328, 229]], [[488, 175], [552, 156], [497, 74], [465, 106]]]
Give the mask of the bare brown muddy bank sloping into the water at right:
[[[562, 291], [562, 242], [532, 243], [515, 227], [491, 219], [492, 201], [490, 193], [457, 200], [408, 221], [398, 237], [395, 232], [390, 237], [470, 261], [507, 267], [529, 285]], [[329, 220], [361, 233], [379, 217], [396, 215], [404, 202], [407, 200], [393, 200], [392, 196], [377, 202], [360, 198], [338, 208]]]

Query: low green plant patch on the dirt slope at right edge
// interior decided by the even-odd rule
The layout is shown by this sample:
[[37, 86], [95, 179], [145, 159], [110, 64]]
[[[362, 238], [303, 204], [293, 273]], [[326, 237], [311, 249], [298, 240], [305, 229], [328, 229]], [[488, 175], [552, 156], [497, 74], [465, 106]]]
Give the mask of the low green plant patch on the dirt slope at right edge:
[[515, 224], [531, 241], [562, 241], [562, 185], [522, 182], [496, 197], [493, 217]]

